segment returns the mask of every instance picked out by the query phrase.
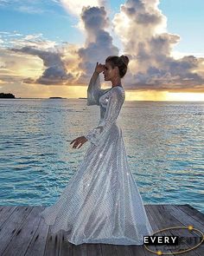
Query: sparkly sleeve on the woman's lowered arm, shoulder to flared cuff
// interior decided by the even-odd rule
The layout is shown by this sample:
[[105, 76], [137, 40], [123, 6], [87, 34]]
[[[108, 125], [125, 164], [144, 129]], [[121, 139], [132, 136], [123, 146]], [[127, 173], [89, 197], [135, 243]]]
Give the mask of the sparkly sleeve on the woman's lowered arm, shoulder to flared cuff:
[[112, 124], [117, 120], [123, 102], [124, 95], [117, 89], [112, 89], [112, 94], [110, 95], [105, 111], [104, 121], [102, 121], [98, 127], [93, 128], [87, 135], [85, 135], [88, 141], [98, 146], [100, 141], [105, 139], [110, 128], [112, 128]]

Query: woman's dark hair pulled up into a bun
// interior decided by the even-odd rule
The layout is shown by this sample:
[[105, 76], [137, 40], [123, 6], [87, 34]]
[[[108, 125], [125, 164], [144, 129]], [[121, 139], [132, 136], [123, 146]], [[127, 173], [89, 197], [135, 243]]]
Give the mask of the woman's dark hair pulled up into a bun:
[[127, 72], [129, 58], [128, 56], [108, 56], [105, 62], [110, 62], [112, 69], [118, 67], [120, 78], [123, 78]]

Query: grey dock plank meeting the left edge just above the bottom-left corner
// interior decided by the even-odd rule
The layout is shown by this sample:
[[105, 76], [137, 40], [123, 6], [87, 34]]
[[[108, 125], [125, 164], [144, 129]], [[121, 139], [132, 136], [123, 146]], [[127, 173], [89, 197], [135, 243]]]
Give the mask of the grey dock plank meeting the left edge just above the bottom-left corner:
[[32, 209], [33, 207], [16, 207], [15, 211], [13, 211], [9, 218], [4, 221], [0, 232], [0, 255], [2, 255], [3, 251], [10, 246], [10, 241], [16, 236], [19, 227], [22, 226], [22, 222]]

